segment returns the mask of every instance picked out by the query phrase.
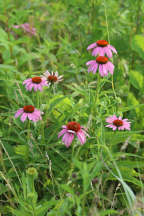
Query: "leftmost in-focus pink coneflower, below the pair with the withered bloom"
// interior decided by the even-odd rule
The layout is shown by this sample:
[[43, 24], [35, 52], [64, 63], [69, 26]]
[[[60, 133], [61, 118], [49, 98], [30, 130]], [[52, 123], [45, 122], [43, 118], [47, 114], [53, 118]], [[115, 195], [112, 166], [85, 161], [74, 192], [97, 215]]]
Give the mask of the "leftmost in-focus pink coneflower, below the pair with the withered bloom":
[[42, 120], [41, 118], [41, 111], [37, 110], [32, 105], [24, 106], [23, 108], [20, 108], [15, 113], [15, 118], [18, 118], [21, 115], [21, 121], [24, 122], [27, 118], [33, 122], [37, 122], [39, 120]]

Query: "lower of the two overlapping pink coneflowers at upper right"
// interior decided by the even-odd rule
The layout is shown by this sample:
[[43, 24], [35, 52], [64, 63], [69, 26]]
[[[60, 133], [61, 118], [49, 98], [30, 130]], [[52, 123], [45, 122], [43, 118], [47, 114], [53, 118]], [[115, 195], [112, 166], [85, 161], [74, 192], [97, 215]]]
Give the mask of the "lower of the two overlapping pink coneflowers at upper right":
[[108, 76], [108, 72], [113, 74], [114, 65], [105, 56], [98, 56], [96, 60], [91, 60], [86, 63], [88, 67], [88, 72], [96, 73], [99, 68], [99, 73], [102, 77]]

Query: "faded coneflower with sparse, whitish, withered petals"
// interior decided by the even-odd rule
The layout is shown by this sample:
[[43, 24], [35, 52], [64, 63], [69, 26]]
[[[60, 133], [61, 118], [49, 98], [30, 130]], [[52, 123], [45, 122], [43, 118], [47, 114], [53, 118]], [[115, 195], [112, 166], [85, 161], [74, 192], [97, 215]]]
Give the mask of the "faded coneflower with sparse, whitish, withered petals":
[[63, 80], [62, 79], [63, 76], [58, 76], [57, 71], [55, 73], [54, 72], [50, 73], [49, 71], [46, 71], [42, 77], [45, 78], [49, 84], [56, 84]]

